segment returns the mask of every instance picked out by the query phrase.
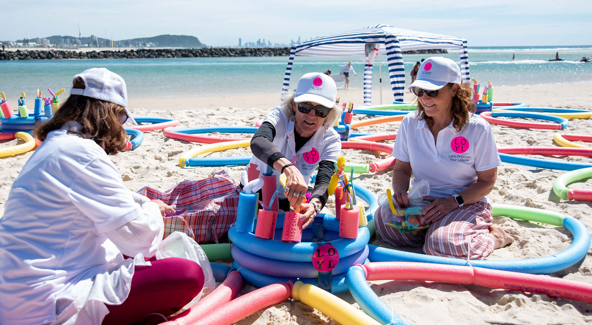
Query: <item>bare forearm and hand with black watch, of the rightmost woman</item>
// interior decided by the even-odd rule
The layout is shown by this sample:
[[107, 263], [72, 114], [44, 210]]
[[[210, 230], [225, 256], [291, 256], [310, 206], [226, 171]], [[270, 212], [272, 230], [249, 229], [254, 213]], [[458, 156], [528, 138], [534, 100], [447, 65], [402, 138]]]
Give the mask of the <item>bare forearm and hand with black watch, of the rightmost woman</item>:
[[[477, 171], [477, 181], [456, 194], [462, 196], [465, 204], [475, 203], [491, 192], [494, 184], [496, 184], [496, 180], [497, 167], [484, 171]], [[435, 222], [442, 219], [442, 217], [458, 208], [458, 204], [456, 204], [456, 200], [452, 196], [425, 198], [426, 200], [432, 201], [432, 203], [424, 207], [422, 210], [424, 213], [423, 217], [427, 222]], [[440, 214], [436, 215], [436, 212], [438, 211]]]

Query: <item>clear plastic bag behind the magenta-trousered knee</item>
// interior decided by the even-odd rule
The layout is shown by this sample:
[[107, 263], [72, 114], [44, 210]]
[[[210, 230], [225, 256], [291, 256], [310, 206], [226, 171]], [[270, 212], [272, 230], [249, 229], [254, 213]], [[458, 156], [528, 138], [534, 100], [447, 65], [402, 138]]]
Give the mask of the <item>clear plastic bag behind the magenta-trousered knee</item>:
[[215, 289], [215, 280], [210, 261], [200, 245], [187, 236], [184, 232], [172, 232], [169, 236], [160, 242], [159, 248], [156, 251], [156, 259], [163, 259], [169, 257], [179, 257], [189, 259], [200, 265], [204, 271], [204, 287], [200, 293], [193, 298], [184, 308], [190, 307], [197, 303], [202, 297], [211, 293]]

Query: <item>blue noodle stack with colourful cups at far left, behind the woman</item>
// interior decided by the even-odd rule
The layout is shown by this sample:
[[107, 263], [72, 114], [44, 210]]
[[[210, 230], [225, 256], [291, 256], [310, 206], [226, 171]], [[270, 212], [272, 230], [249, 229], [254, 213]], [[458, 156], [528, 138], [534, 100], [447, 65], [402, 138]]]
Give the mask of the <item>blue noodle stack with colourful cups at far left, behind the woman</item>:
[[38, 122], [46, 121], [52, 116], [52, 105], [44, 105], [43, 113], [41, 113], [41, 106], [43, 106], [43, 100], [36, 98], [34, 113], [29, 114], [25, 99], [21, 98], [19, 99], [18, 113], [14, 115], [8, 100], [3, 101], [0, 104], [2, 109], [2, 113], [0, 113], [0, 132], [27, 132], [31, 134], [31, 130]]

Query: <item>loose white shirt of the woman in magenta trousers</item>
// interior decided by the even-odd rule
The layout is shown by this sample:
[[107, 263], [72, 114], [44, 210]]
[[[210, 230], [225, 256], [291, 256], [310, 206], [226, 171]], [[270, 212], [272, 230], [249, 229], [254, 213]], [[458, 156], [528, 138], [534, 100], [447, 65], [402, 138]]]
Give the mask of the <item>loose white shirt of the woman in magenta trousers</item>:
[[104, 303], [121, 304], [164, 227], [132, 193], [92, 139], [49, 132], [0, 218], [0, 324], [100, 324]]

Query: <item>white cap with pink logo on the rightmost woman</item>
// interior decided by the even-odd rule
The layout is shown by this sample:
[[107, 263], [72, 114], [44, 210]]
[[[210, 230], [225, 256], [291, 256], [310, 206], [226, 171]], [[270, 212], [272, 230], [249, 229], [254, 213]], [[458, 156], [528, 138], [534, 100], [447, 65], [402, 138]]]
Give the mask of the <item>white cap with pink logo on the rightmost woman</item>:
[[449, 58], [433, 56], [422, 62], [417, 71], [417, 79], [407, 89], [419, 87], [438, 90], [449, 82], [461, 83], [461, 68]]

